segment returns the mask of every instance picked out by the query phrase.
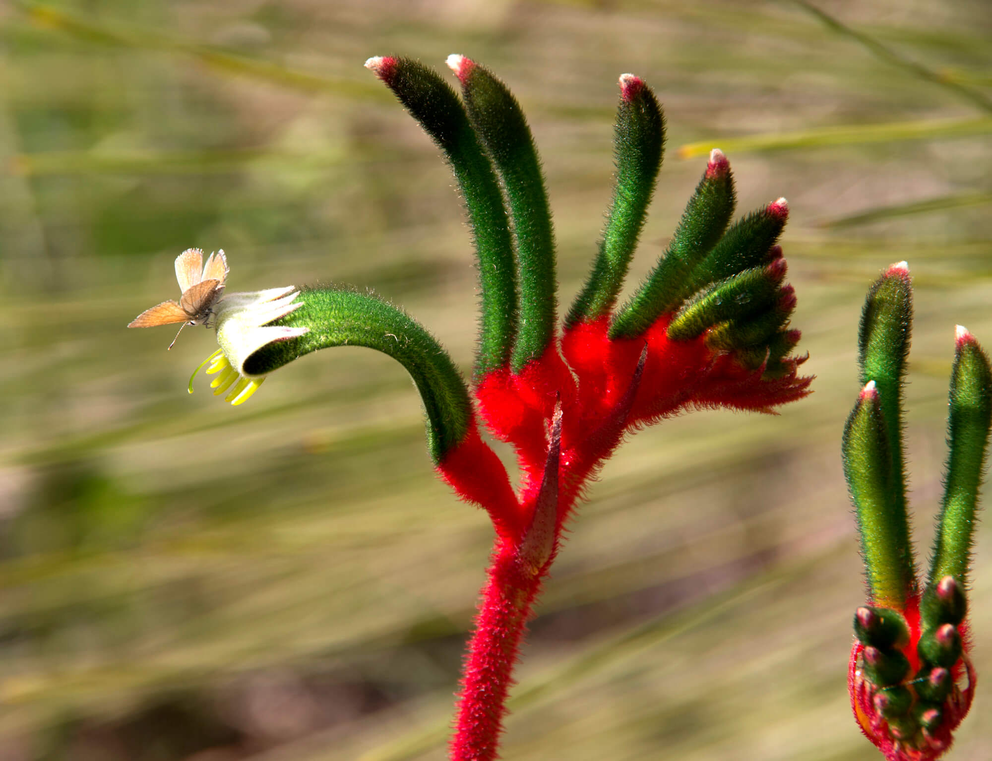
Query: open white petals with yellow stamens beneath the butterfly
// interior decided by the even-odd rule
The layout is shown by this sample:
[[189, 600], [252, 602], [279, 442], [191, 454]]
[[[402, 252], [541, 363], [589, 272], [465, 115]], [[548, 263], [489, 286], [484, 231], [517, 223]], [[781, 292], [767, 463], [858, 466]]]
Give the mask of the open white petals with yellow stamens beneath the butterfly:
[[310, 331], [309, 327], [289, 327], [270, 324], [304, 306], [294, 286], [270, 288], [265, 291], [229, 294], [214, 307], [217, 343], [220, 348], [204, 359], [189, 378], [192, 379], [209, 363], [207, 374], [216, 375], [211, 382], [214, 396], [227, 392], [225, 402], [239, 405], [247, 402], [266, 379], [266, 373], [256, 374], [245, 369], [248, 358], [275, 341], [296, 338]]

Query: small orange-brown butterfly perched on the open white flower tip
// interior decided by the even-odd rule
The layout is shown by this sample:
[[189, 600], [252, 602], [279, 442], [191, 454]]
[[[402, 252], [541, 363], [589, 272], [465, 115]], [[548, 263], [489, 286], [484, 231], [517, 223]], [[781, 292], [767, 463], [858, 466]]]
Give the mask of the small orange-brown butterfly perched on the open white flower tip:
[[[210, 254], [204, 265], [203, 252], [198, 248], [187, 248], [176, 257], [176, 279], [183, 291], [179, 303], [170, 300], [145, 310], [131, 320], [128, 327], [155, 327], [183, 322], [180, 327], [180, 332], [183, 332], [187, 324], [205, 324], [213, 314], [213, 305], [224, 293], [224, 281], [229, 271], [223, 250]], [[179, 337], [180, 333], [176, 333], [176, 338]], [[176, 338], [173, 338], [169, 348], [176, 343]]]

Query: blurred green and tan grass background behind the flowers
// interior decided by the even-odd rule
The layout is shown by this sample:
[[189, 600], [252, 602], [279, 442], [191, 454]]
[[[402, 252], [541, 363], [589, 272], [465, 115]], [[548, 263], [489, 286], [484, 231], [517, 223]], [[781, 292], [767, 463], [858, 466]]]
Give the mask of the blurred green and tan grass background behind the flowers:
[[[779, 195], [815, 393], [639, 434], [589, 490], [520, 669], [508, 759], [879, 756], [846, 697], [863, 599], [839, 463], [865, 291], [907, 259], [917, 539], [955, 322], [992, 347], [985, 0], [89, 0], [0, 6], [0, 758], [440, 759], [490, 543], [433, 476], [416, 393], [320, 352], [231, 408], [211, 335], [126, 330], [223, 247], [228, 288], [374, 287], [472, 352], [468, 234], [437, 151], [362, 63], [450, 53], [542, 150], [561, 302], [610, 193], [617, 76], [669, 152], [632, 282], [701, 155]], [[680, 146], [687, 146], [682, 150]], [[694, 157], [694, 158], [692, 158]], [[992, 531], [975, 663], [992, 673]], [[983, 601], [985, 604], [983, 604]], [[992, 757], [988, 692], [948, 758]]]

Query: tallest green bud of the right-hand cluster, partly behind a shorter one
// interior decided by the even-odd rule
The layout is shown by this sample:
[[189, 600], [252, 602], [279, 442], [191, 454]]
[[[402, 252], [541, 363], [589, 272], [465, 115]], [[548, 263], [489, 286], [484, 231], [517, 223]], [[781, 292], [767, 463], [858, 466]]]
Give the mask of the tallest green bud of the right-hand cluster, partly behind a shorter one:
[[[910, 271], [906, 262], [899, 262], [882, 274], [865, 298], [858, 333], [858, 365], [861, 383], [875, 381], [878, 388], [892, 472], [889, 502], [894, 513], [903, 515], [904, 524], [907, 523], [907, 506], [902, 399], [912, 327]], [[909, 528], [906, 529], [906, 544], [909, 548]], [[915, 573], [912, 577], [916, 577]]]

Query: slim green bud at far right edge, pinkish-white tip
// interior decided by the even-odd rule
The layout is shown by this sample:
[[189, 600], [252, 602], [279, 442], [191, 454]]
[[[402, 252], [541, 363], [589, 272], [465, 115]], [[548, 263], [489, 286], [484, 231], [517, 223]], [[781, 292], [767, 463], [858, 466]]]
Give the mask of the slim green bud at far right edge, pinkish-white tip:
[[992, 423], [992, 373], [981, 346], [957, 326], [957, 349], [950, 374], [950, 451], [944, 475], [943, 502], [933, 543], [930, 584], [943, 576], [967, 580], [978, 487], [981, 483]]

